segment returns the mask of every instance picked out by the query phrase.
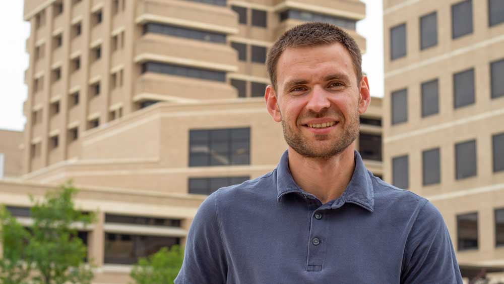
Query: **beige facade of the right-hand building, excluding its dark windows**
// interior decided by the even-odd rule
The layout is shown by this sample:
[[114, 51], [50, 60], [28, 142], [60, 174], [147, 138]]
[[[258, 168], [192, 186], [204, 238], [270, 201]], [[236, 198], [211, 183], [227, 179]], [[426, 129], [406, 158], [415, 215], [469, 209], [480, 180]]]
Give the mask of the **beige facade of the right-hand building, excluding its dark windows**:
[[[452, 5], [460, 0], [385, 0], [384, 179], [393, 182], [394, 157], [409, 159], [409, 189], [442, 212], [457, 250], [457, 216], [477, 212], [478, 248], [458, 250], [461, 264], [504, 265], [495, 245], [494, 210], [504, 207], [504, 172], [494, 172], [492, 136], [503, 133], [504, 97], [491, 97], [490, 63], [504, 59], [504, 24], [490, 26], [488, 1], [472, 1], [473, 31], [452, 38]], [[437, 13], [437, 43], [420, 48], [420, 18]], [[406, 24], [406, 55], [391, 59], [391, 29]], [[475, 102], [454, 107], [454, 74], [474, 69]], [[438, 112], [422, 117], [423, 82], [438, 79]], [[504, 78], [501, 78], [504, 79]], [[407, 121], [392, 123], [392, 93], [407, 89]], [[476, 141], [475, 176], [456, 177], [455, 145]], [[423, 185], [422, 151], [438, 148], [440, 182]]]

